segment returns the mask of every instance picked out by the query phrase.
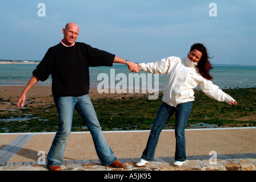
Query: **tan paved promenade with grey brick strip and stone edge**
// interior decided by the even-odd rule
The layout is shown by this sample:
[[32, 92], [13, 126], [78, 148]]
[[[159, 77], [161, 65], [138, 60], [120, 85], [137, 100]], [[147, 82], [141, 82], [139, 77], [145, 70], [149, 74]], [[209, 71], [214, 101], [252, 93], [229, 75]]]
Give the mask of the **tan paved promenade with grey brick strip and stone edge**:
[[[154, 162], [135, 167], [150, 131], [103, 132], [115, 156], [127, 168], [101, 166], [89, 132], [73, 132], [67, 141], [63, 170], [75, 171], [255, 171], [256, 127], [187, 129], [187, 161], [173, 166], [174, 130], [163, 130]], [[42, 171], [55, 133], [0, 134], [0, 171]], [[215, 160], [217, 159], [217, 160]]]

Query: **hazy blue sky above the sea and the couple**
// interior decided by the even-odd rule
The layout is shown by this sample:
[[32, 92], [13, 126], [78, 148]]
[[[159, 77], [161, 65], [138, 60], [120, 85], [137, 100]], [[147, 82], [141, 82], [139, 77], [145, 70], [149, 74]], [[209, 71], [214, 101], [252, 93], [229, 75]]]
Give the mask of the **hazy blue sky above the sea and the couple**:
[[77, 42], [135, 63], [203, 43], [213, 64], [256, 65], [255, 10], [255, 0], [1, 0], [0, 59], [42, 60], [74, 22]]

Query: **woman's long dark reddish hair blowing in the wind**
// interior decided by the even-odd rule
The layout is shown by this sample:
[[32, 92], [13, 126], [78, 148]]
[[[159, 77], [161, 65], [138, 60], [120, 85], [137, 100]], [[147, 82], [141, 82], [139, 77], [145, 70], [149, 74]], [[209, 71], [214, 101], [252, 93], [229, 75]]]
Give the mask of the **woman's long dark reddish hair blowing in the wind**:
[[209, 57], [206, 47], [203, 46], [203, 44], [201, 43], [193, 44], [189, 52], [193, 51], [194, 49], [197, 49], [198, 51], [202, 52], [202, 57], [197, 63], [198, 73], [207, 80], [212, 80], [213, 76], [210, 75], [210, 70], [213, 69], [213, 67], [209, 59], [213, 57]]

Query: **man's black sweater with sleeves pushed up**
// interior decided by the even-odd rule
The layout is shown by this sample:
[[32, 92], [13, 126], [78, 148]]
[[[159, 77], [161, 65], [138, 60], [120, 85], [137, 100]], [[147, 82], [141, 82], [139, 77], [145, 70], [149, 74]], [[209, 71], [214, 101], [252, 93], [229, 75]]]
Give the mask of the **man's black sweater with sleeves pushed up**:
[[115, 55], [93, 48], [85, 43], [75, 42], [72, 47], [62, 43], [51, 47], [33, 71], [40, 81], [51, 75], [54, 96], [79, 97], [89, 93], [89, 67], [113, 65]]

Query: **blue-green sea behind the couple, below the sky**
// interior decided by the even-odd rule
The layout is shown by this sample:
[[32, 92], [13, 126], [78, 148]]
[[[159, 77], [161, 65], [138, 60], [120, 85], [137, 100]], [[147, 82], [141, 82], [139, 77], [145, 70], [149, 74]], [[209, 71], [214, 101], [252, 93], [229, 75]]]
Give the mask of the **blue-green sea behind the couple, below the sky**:
[[[37, 64], [0, 64], [0, 86], [25, 86], [36, 67]], [[213, 84], [221, 89], [256, 87], [256, 66], [213, 65], [213, 67], [210, 72], [214, 77]], [[137, 78], [139, 79], [136, 80]], [[90, 86], [102, 89], [109, 86], [109, 88], [125, 90], [134, 84], [134, 88], [163, 90], [166, 80], [166, 75], [154, 75], [143, 71], [130, 72], [123, 64], [114, 64], [112, 67], [90, 67]], [[39, 81], [37, 85], [50, 86], [51, 76], [46, 81]]]

